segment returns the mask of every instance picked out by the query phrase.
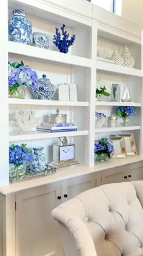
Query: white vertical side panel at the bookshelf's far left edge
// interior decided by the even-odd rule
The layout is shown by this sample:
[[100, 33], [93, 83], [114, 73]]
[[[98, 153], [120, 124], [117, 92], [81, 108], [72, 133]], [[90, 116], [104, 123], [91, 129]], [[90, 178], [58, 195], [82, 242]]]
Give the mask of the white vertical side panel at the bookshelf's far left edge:
[[1, 138], [0, 138], [0, 186], [9, 183], [8, 172], [8, 30], [7, 30], [7, 16], [8, 16], [8, 0], [5, 0], [2, 5], [2, 13], [0, 16], [0, 110], [1, 110]]

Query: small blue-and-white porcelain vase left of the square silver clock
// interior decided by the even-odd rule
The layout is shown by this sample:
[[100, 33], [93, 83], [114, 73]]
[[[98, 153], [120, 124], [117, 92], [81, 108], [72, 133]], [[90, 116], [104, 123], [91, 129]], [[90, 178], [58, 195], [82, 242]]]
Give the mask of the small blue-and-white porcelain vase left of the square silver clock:
[[43, 147], [33, 148], [32, 171], [38, 172], [45, 169], [45, 154]]

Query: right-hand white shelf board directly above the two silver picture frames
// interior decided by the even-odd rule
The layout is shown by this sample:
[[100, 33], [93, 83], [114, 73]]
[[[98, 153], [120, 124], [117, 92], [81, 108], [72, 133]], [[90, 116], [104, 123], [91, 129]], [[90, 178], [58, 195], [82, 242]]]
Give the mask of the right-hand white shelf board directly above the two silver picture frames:
[[101, 127], [101, 128], [96, 128], [95, 133], [122, 132], [126, 130], [140, 130], [140, 129], [141, 129], [141, 126]]

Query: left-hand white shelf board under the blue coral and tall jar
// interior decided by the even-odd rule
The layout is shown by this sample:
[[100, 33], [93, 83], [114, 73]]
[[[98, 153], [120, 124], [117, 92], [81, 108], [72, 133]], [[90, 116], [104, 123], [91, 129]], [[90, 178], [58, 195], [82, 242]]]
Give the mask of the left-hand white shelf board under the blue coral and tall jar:
[[35, 58], [45, 60], [47, 62], [58, 62], [66, 65], [85, 66], [87, 68], [91, 68], [91, 59], [38, 47], [35, 48], [35, 46], [15, 43], [12, 41], [8, 41], [8, 52], [11, 54], [24, 55], [30, 59]]

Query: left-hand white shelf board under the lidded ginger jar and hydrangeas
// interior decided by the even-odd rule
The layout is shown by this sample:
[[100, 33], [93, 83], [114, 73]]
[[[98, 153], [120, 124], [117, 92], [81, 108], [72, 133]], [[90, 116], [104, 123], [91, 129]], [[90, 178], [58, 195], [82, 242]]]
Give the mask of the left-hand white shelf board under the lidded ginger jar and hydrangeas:
[[48, 101], [39, 99], [8, 99], [9, 105], [45, 105], [45, 106], [72, 106], [88, 107], [88, 102], [82, 101]]

